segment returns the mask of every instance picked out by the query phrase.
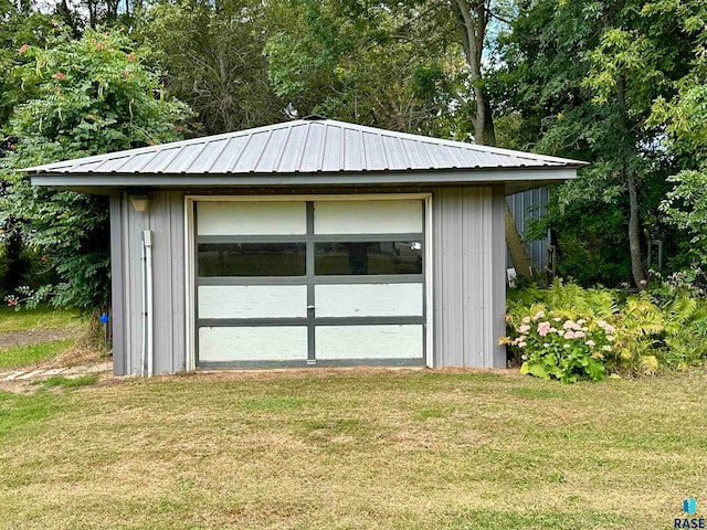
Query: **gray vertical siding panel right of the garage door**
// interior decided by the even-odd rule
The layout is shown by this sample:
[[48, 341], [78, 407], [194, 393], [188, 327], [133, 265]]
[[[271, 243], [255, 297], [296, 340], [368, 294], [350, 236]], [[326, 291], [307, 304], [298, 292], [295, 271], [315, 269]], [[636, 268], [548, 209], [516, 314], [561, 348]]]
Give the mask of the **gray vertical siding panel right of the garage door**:
[[505, 367], [503, 187], [432, 195], [434, 367]]

